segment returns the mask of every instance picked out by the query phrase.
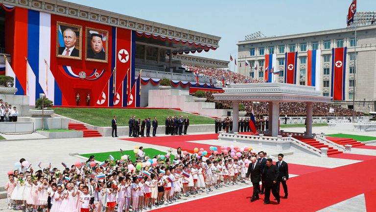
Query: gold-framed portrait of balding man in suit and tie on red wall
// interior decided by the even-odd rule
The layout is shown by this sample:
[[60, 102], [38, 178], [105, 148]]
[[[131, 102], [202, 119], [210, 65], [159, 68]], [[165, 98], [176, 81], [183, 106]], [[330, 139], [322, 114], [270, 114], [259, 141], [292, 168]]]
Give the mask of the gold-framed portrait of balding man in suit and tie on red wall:
[[82, 59], [82, 26], [56, 23], [56, 56]]

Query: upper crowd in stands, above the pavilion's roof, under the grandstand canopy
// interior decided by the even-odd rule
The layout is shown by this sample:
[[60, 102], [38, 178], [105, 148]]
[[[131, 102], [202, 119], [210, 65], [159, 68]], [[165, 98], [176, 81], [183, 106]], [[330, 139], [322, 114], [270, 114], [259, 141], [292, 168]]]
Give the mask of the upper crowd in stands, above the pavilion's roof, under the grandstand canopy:
[[198, 72], [199, 76], [211, 77], [212, 79], [216, 79], [217, 83], [222, 82], [222, 76], [225, 77], [226, 84], [262, 82], [262, 80], [245, 77], [241, 74], [232, 72], [230, 70], [223, 70], [223, 69], [212, 68], [208, 66], [195, 66], [195, 65], [190, 65], [190, 64], [182, 64], [182, 66], [192, 73]]

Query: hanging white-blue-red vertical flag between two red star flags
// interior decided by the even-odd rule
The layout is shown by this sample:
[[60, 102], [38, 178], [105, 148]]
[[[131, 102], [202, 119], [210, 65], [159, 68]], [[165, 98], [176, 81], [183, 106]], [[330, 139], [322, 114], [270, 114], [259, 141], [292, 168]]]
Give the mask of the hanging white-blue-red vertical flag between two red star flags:
[[307, 85], [320, 90], [321, 50], [308, 50], [307, 55]]

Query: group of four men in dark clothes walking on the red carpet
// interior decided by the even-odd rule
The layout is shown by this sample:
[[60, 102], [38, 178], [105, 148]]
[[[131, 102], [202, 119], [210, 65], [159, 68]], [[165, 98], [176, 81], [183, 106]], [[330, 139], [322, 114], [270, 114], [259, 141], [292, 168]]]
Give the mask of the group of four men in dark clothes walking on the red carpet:
[[[280, 185], [282, 183], [284, 196], [286, 199], [288, 196], [287, 184], [288, 180], [288, 165], [283, 161], [283, 154], [278, 154], [278, 162], [273, 164], [272, 159], [266, 159], [264, 152], [259, 152], [259, 158], [251, 158], [251, 162], [248, 166], [246, 178], [250, 178], [253, 185], [253, 194], [251, 202], [258, 200], [258, 194], [264, 194], [264, 204], [270, 204], [270, 192], [280, 204]], [[260, 189], [260, 181], [262, 186]]]

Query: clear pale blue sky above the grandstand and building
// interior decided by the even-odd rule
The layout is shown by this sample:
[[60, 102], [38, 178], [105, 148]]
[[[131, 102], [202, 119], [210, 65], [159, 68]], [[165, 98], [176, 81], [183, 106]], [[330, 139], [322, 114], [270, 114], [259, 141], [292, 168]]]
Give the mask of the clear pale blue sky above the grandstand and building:
[[[346, 27], [352, 0], [67, 1], [220, 36], [216, 51], [195, 55], [229, 60], [230, 53], [237, 55], [236, 43], [252, 32], [279, 36]], [[357, 4], [357, 11], [376, 11], [375, 0]]]

